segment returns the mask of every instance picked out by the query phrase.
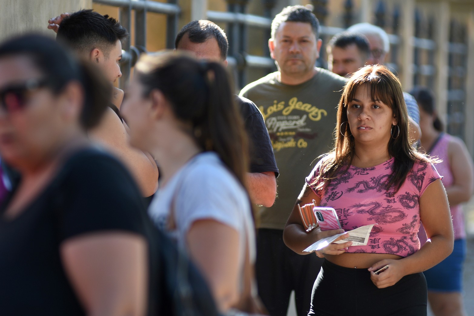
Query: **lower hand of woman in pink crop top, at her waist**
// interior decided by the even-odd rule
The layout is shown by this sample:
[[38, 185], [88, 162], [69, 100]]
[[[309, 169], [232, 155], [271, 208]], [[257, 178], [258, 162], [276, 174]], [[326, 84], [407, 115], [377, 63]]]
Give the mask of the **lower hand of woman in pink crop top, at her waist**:
[[[389, 267], [383, 270], [382, 268], [387, 265]], [[375, 274], [375, 272], [380, 269], [383, 271]], [[374, 263], [372, 267], [367, 270], [370, 271], [370, 279], [379, 289], [388, 288], [405, 276], [405, 273], [403, 272], [403, 263], [401, 260], [384, 259]]]

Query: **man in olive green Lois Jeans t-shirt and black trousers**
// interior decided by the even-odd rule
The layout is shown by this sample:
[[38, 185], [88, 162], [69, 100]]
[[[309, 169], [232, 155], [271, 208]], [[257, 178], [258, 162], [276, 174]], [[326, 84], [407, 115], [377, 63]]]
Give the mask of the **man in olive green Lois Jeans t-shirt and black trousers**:
[[[319, 155], [333, 146], [337, 104], [346, 79], [316, 68], [319, 22], [303, 6], [287, 7], [272, 22], [270, 54], [278, 71], [248, 84], [240, 95], [262, 112], [277, 165], [278, 197], [260, 209], [256, 277], [270, 315], [286, 315], [295, 291], [299, 316], [310, 310], [311, 290], [322, 259], [293, 253], [283, 243], [283, 228], [305, 177]], [[314, 162], [314, 163], [313, 163]]]

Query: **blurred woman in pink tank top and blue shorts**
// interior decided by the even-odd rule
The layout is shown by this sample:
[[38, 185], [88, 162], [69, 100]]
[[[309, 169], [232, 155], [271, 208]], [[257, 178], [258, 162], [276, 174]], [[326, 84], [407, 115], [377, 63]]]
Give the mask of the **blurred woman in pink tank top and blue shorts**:
[[[428, 301], [436, 316], [464, 316], [462, 272], [466, 254], [466, 233], [461, 203], [467, 202], [474, 190], [472, 158], [463, 141], [443, 133], [432, 93], [425, 88], [411, 91], [420, 110], [421, 150], [443, 161], [436, 168], [443, 176], [454, 228], [454, 250], [445, 260], [425, 271]], [[424, 230], [420, 242], [426, 242]]]

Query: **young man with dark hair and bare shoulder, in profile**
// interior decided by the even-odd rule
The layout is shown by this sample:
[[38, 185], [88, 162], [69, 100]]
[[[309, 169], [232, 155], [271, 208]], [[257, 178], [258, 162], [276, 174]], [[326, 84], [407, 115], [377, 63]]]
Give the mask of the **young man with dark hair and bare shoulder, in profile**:
[[[110, 82], [121, 77], [119, 63], [122, 59], [122, 43], [128, 39], [128, 32], [116, 19], [84, 9], [72, 14], [63, 13], [50, 19], [49, 23], [48, 28], [57, 33], [58, 41], [96, 64]], [[128, 144], [128, 127], [119, 112], [122, 99], [123, 91], [114, 87], [108, 111], [100, 125], [89, 132], [89, 136], [128, 167], [143, 196], [149, 197], [155, 193], [158, 185], [158, 168], [149, 153], [143, 153]]]

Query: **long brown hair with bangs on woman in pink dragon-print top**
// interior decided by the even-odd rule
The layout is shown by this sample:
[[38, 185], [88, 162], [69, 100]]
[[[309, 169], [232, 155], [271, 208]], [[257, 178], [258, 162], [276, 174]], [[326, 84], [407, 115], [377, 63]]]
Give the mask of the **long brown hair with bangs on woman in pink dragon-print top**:
[[355, 72], [344, 87], [337, 108], [336, 144], [333, 151], [328, 153], [328, 159], [322, 163], [321, 172], [314, 181], [314, 183], [321, 183], [319, 189], [325, 190], [331, 179], [346, 172], [352, 163], [356, 143], [349, 129], [347, 105], [354, 99], [357, 88], [364, 84], [370, 85], [370, 94], [373, 100], [380, 100], [392, 108], [393, 116], [396, 117], [397, 125], [400, 128], [399, 135], [395, 139], [390, 137], [387, 144], [388, 152], [395, 160], [392, 175], [387, 181], [385, 189], [390, 190], [395, 187], [395, 191], [398, 191], [415, 162], [430, 162], [429, 158], [410, 146], [408, 111], [398, 78], [386, 66], [365, 66]]

